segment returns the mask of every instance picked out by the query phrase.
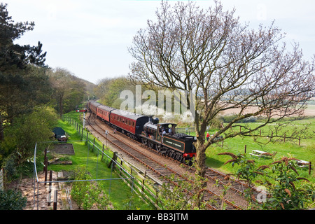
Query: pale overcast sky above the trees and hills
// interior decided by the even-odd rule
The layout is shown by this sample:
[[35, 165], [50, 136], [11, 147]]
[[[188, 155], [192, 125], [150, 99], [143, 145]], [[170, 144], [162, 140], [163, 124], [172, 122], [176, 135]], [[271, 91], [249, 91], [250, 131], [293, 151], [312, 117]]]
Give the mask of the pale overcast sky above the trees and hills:
[[[62, 67], [92, 83], [126, 76], [133, 61], [127, 48], [146, 20], [155, 20], [160, 1], [151, 0], [0, 0], [8, 3], [15, 22], [34, 21], [17, 43], [43, 43], [46, 64]], [[174, 3], [175, 1], [171, 1]], [[236, 8], [241, 22], [256, 28], [275, 25], [286, 32], [288, 43], [300, 43], [305, 59], [315, 54], [314, 0], [221, 0], [225, 10]], [[213, 0], [197, 1], [202, 8]]]

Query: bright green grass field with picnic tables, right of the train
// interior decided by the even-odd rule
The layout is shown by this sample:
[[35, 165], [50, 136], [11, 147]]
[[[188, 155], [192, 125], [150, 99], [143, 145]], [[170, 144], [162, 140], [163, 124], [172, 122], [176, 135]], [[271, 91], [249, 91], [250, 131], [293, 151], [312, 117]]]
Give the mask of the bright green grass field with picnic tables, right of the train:
[[[304, 120], [296, 120], [293, 122], [294, 125], [297, 125], [302, 127], [302, 125], [309, 124], [309, 130], [312, 132], [315, 130], [315, 118], [311, 119], [304, 119]], [[253, 127], [253, 125], [258, 125], [258, 123], [248, 123], [250, 127]], [[286, 127], [287, 129], [290, 129], [292, 127]], [[262, 132], [268, 130], [269, 127], [263, 127]], [[286, 129], [284, 129], [286, 130]], [[215, 130], [214, 130], [215, 131]], [[209, 132], [210, 134], [213, 134], [214, 131]], [[260, 138], [260, 141], [266, 141], [266, 139]], [[221, 144], [210, 146], [207, 148], [207, 166], [212, 167], [215, 169], [219, 169], [222, 172], [225, 173], [235, 173], [237, 170], [237, 166], [232, 167], [232, 165], [229, 163], [227, 165], [223, 165], [227, 160], [230, 160], [230, 156], [228, 155], [218, 155], [218, 153], [223, 152], [230, 152], [237, 155], [238, 153], [244, 153], [244, 148], [246, 145], [246, 154], [248, 155], [248, 158], [251, 157], [249, 153], [253, 150], [260, 150], [260, 151], [266, 151], [268, 153], [276, 153], [275, 160], [278, 160], [279, 158], [288, 157], [288, 158], [297, 158], [299, 160], [305, 160], [310, 161], [312, 165], [311, 169], [311, 175], [309, 175], [309, 169], [307, 167], [305, 168], [299, 168], [297, 172], [300, 174], [300, 177], [304, 177], [309, 179], [309, 181], [315, 183], [315, 141], [314, 137], [312, 139], [301, 139], [300, 146], [299, 146], [299, 140], [294, 139], [292, 141], [286, 140], [286, 142], [283, 142], [283, 139], [277, 139], [275, 143], [269, 143], [265, 145], [257, 144], [255, 143], [253, 137], [234, 137], [232, 139], [226, 139], [223, 143], [223, 146]], [[253, 158], [255, 160], [258, 167], [260, 165], [269, 165], [270, 163], [274, 162], [272, 158]]]

